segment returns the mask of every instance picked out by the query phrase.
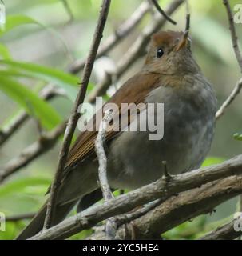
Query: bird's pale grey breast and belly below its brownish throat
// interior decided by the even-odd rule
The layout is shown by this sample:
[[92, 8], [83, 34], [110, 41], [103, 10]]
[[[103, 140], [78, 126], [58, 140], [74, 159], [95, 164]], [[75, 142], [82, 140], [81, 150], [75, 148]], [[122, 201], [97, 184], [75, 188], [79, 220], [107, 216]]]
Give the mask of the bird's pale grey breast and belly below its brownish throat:
[[162, 126], [163, 137], [151, 140], [149, 131], [125, 131], [113, 140], [109, 150], [113, 186], [133, 189], [157, 180], [162, 175], [162, 161], [167, 162], [171, 174], [199, 167], [214, 134], [216, 98], [207, 96], [209, 90], [201, 87], [200, 94], [195, 93], [197, 98], [171, 88], [153, 90], [147, 102], [164, 103], [162, 114], [156, 108], [150, 113]]

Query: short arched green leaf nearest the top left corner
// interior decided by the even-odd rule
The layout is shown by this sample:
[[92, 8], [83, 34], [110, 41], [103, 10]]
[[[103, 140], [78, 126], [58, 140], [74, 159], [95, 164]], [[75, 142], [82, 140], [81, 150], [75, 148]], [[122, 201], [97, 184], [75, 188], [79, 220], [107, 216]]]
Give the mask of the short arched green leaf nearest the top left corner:
[[6, 17], [6, 26], [5, 29], [0, 29], [0, 37], [3, 34], [6, 34], [10, 30], [14, 29], [16, 26], [21, 26], [24, 24], [36, 24], [36, 25], [41, 25], [37, 21], [34, 20], [34, 18], [30, 18], [25, 15], [8, 15]]

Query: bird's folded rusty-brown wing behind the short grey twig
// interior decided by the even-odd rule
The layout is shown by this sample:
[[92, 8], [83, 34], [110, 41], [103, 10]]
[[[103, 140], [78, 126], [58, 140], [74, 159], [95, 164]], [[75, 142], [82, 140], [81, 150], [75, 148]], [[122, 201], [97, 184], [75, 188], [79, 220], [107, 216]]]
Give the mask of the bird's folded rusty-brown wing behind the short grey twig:
[[[129, 78], [127, 82], [117, 92], [109, 99], [109, 102], [117, 104], [119, 109], [121, 109], [121, 103], [141, 103], [144, 102], [145, 96], [149, 94], [150, 90], [159, 86], [159, 74], [150, 73], [138, 73], [133, 78]], [[101, 110], [102, 111], [102, 110]], [[119, 111], [118, 113], [113, 113], [113, 119], [121, 118]], [[94, 123], [97, 122], [98, 126], [101, 120], [96, 120], [95, 116]], [[93, 119], [89, 122], [93, 122]], [[106, 134], [106, 141], [111, 140], [117, 136], [120, 132], [109, 130]], [[97, 131], [85, 131], [82, 132], [74, 146], [69, 152], [69, 159], [66, 164], [65, 169], [75, 165], [77, 162], [81, 162], [90, 154], [94, 152], [94, 142], [97, 137]]]

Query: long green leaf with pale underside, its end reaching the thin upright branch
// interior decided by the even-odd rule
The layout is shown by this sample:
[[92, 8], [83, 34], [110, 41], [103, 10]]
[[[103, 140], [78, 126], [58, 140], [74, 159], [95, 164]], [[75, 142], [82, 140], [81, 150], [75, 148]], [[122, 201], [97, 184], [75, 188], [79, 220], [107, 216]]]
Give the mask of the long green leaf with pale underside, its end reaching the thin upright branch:
[[11, 70], [13, 75], [29, 76], [31, 78], [38, 78], [46, 82], [52, 82], [60, 86], [66, 91], [66, 94], [74, 102], [77, 95], [77, 84], [79, 78], [72, 74], [67, 74], [61, 70], [54, 68], [40, 66], [34, 63], [15, 62], [11, 60], [0, 60], [0, 64], [6, 65]]

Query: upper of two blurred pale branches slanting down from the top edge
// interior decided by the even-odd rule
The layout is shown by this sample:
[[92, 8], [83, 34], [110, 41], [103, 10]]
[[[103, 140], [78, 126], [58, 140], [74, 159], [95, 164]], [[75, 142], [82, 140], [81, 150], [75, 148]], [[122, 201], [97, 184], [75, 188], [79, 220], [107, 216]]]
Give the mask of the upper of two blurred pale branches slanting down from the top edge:
[[[127, 19], [121, 26], [111, 34], [105, 42], [100, 46], [97, 51], [97, 57], [100, 58], [101, 56], [107, 54], [110, 50], [113, 49], [114, 46], [117, 46], [117, 43], [121, 42], [121, 40], [127, 37], [130, 32], [132, 32], [137, 25], [141, 22], [141, 19], [145, 17], [145, 14], [149, 11], [150, 6], [149, 3], [142, 2], [140, 6], [137, 7], [137, 10], [133, 12], [133, 14]], [[85, 58], [81, 60], [77, 60], [70, 66], [69, 70], [73, 73], [77, 73], [83, 69], [85, 66]]]

